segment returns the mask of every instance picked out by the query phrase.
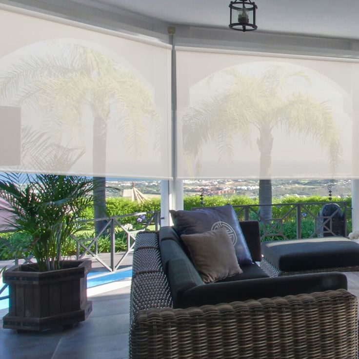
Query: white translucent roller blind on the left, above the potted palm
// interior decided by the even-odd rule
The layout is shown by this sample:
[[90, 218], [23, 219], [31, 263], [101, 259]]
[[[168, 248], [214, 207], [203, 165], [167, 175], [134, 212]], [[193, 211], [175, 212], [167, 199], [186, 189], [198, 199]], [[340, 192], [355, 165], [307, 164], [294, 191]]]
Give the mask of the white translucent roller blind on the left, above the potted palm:
[[29, 14], [0, 10], [0, 171], [170, 178], [170, 47]]

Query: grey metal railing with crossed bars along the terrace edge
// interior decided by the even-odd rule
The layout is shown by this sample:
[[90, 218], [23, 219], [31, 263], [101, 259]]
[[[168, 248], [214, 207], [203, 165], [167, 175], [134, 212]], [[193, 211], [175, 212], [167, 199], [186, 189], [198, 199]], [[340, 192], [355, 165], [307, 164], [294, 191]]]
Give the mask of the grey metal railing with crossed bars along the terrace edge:
[[[330, 216], [320, 216], [319, 211], [324, 204], [335, 203], [338, 205], [336, 211]], [[271, 206], [272, 218], [265, 219], [261, 215], [260, 208]], [[337, 202], [311, 202], [311, 203], [281, 203], [261, 205], [234, 205], [233, 206], [239, 220], [258, 220], [260, 224], [261, 240], [273, 239], [301, 239], [313, 237], [325, 237], [338, 235], [335, 231], [335, 222], [339, 215], [342, 216], [342, 233], [340, 235], [347, 236], [347, 220], [351, 219], [351, 208], [345, 201]], [[203, 207], [200, 207], [203, 208]], [[138, 223], [137, 219], [141, 219]], [[110, 218], [88, 219], [84, 223], [88, 223], [89, 229], [94, 232], [94, 223], [103, 221], [103, 227], [97, 235], [93, 237], [83, 238], [73, 236], [76, 242], [76, 258], [82, 259], [86, 255], [90, 255], [96, 259], [108, 271], [116, 271], [123, 260], [132, 250], [136, 234], [151, 229], [158, 230], [160, 226], [159, 212], [137, 212], [128, 215], [114, 216]], [[128, 223], [136, 222], [135, 229], [131, 228]], [[338, 223], [337, 223], [338, 224]], [[126, 242], [126, 249], [122, 251], [116, 250], [116, 240], [119, 236]], [[109, 263], [99, 255], [99, 240], [109, 241]], [[120, 258], [119, 258], [120, 256]], [[25, 262], [30, 262], [29, 257], [24, 257]], [[18, 263], [18, 259], [15, 259]], [[6, 285], [0, 288], [0, 295], [3, 293]], [[6, 298], [6, 297], [5, 297]], [[4, 299], [4, 297], [0, 297]]]

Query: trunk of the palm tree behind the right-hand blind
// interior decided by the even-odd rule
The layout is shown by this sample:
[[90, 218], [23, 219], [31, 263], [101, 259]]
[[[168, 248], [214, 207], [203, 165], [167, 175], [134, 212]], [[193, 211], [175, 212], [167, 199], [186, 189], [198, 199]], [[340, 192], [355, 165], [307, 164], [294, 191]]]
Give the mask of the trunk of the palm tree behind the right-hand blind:
[[[269, 123], [264, 123], [260, 128], [260, 136], [257, 140], [260, 153], [259, 161], [259, 216], [261, 220], [272, 218], [272, 147], [273, 137]], [[264, 206], [265, 205], [265, 206]]]

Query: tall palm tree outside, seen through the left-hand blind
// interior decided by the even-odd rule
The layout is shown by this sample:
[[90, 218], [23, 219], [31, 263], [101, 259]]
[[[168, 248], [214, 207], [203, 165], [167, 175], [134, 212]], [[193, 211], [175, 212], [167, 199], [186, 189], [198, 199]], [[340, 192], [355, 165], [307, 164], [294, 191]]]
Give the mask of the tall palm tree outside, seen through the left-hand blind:
[[[154, 128], [158, 120], [151, 93], [129, 70], [96, 50], [64, 41], [56, 41], [55, 46], [49, 42], [45, 53], [28, 54], [1, 71], [0, 99], [40, 110], [51, 118], [54, 136], [64, 126], [80, 136], [83, 109], [90, 108], [95, 219], [106, 216], [106, 137], [112, 113], [120, 112], [118, 123], [126, 128], [134, 159], [146, 142], [147, 118], [153, 120]], [[98, 234], [103, 222], [95, 224]]]

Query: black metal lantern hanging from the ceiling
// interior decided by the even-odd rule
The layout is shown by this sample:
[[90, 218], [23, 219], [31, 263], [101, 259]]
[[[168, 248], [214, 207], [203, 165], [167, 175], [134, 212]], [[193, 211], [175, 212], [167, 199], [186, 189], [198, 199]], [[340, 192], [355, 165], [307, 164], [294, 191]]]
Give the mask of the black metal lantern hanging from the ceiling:
[[[257, 5], [251, 0], [235, 0], [229, 4], [229, 27], [239, 31], [253, 31], [257, 29]], [[237, 14], [238, 13], [238, 14]]]

